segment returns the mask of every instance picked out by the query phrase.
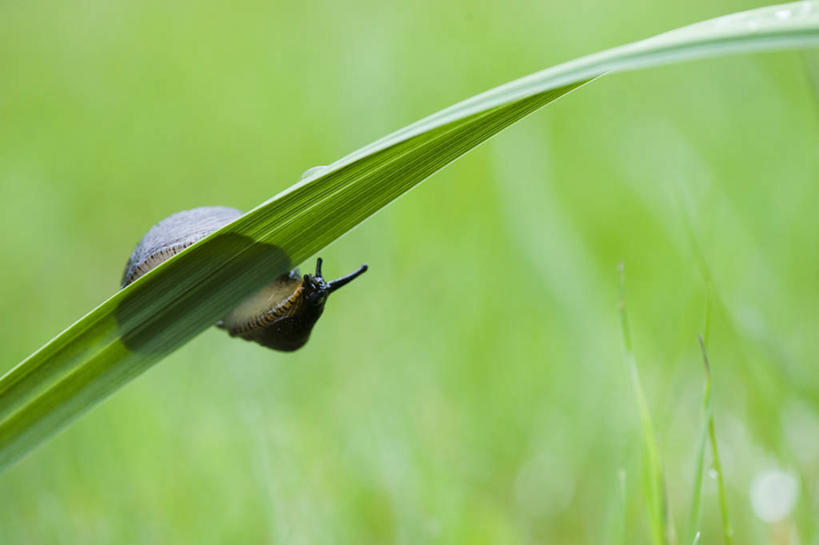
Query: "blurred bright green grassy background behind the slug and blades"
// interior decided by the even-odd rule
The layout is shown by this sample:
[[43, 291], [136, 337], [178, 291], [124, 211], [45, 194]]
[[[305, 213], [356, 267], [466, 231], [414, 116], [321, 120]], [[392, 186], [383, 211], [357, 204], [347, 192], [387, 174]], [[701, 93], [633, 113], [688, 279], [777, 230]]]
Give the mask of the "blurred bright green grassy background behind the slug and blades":
[[[2, 2], [0, 372], [168, 214], [249, 209], [490, 86], [760, 5]], [[322, 252], [371, 270], [305, 349], [212, 329], [6, 470], [0, 543], [646, 542], [620, 261], [680, 537], [705, 263], [736, 542], [819, 543], [816, 58], [608, 77], [502, 133]], [[773, 469], [794, 504], [765, 522]]]

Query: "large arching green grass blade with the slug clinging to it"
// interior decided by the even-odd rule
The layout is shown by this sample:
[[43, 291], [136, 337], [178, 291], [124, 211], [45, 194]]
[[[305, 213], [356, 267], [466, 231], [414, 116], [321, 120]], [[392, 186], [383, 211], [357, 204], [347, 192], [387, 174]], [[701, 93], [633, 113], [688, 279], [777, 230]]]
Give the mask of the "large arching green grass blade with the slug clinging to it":
[[819, 45], [819, 2], [752, 10], [502, 85], [315, 172], [157, 267], [0, 379], [0, 468], [448, 163], [602, 74]]

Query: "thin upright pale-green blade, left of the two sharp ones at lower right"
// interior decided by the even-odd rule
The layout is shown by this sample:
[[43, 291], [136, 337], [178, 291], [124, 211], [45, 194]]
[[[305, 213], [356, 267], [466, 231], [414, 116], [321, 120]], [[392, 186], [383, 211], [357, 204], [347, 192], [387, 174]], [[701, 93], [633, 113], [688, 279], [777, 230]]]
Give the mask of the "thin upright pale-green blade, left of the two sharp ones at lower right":
[[629, 328], [628, 314], [626, 312], [626, 273], [625, 266], [620, 263], [617, 266], [619, 276], [620, 297], [617, 308], [620, 313], [620, 327], [623, 333], [623, 345], [625, 347], [626, 370], [631, 380], [634, 390], [634, 398], [640, 412], [640, 425], [643, 432], [643, 452], [646, 458], [644, 465], [644, 492], [648, 500], [649, 521], [651, 523], [651, 537], [655, 544], [662, 545], [673, 541], [671, 528], [671, 517], [668, 508], [668, 499], [665, 490], [665, 478], [660, 461], [660, 454], [657, 449], [657, 439], [654, 434], [654, 425], [651, 422], [651, 411], [648, 407], [643, 386], [640, 381], [640, 374], [637, 370], [637, 362], [631, 344], [631, 330]]

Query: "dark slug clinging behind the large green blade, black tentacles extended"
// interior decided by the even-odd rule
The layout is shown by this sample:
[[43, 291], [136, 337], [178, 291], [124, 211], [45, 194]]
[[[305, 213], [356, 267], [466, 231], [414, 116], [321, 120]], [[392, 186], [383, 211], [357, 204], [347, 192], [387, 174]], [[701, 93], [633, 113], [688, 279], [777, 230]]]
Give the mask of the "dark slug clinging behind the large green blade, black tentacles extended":
[[[207, 206], [163, 219], [134, 248], [125, 267], [122, 287], [241, 215], [234, 208]], [[315, 274], [300, 276], [298, 269], [282, 274], [216, 325], [231, 337], [255, 341], [274, 350], [298, 350], [321, 317], [327, 297], [367, 270], [367, 265], [362, 265], [346, 276], [326, 282], [321, 265], [318, 258]]]

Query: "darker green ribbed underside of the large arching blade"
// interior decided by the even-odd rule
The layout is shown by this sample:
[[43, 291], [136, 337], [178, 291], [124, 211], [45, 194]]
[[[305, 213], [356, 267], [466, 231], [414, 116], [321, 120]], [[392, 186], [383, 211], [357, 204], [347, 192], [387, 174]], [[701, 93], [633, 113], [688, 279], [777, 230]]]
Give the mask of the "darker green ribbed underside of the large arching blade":
[[[0, 414], [13, 408], [14, 402], [24, 403], [22, 409], [10, 412], [0, 423], [0, 466], [30, 449], [44, 432], [64, 426], [82, 409], [104, 399], [181, 344], [180, 340], [187, 340], [213, 324], [230, 310], [234, 301], [248, 295], [248, 286], [252, 286], [250, 293], [260, 289], [270, 278], [291, 268], [292, 263], [309, 257], [441, 166], [579, 85], [549, 90], [505, 108], [493, 108], [432, 130], [421, 141], [401, 143], [385, 153], [366, 157], [353, 165], [356, 168], [352, 174], [341, 169], [329, 176], [335, 191], [302, 184], [300, 191], [271, 203], [284, 202], [284, 206], [292, 208], [285, 212], [274, 208], [277, 219], [262, 223], [261, 229], [245, 224], [248, 218], [254, 219], [252, 213], [245, 215], [208, 237], [204, 244], [191, 246], [152, 270], [143, 277], [147, 284], [143, 292], [137, 291], [135, 298], [128, 299], [134, 291], [131, 286], [139, 287], [140, 279], [103, 305], [113, 308], [100, 323], [92, 322], [90, 331], [80, 332], [100, 348], [96, 354], [83, 353], [84, 359], [79, 360], [82, 365], [73, 365], [71, 353], [57, 359], [57, 363], [65, 366], [60, 369], [62, 376], [56, 383], [45, 385], [50, 386], [47, 389], [38, 389], [43, 386], [38, 373], [57, 374], [54, 352], [60, 354], [63, 349], [59, 345], [61, 336], [0, 381], [7, 386], [6, 392], [0, 393]], [[405, 148], [410, 145], [408, 153]], [[377, 169], [371, 162], [376, 163]], [[350, 176], [358, 181], [369, 180], [373, 172], [390, 183], [352, 186], [344, 183]], [[337, 181], [336, 176], [342, 181]], [[314, 197], [316, 189], [329, 196]], [[334, 213], [339, 206], [343, 215]], [[288, 220], [288, 215], [292, 219]], [[305, 237], [305, 232], [316, 235]], [[225, 239], [231, 235], [238, 238]], [[266, 244], [272, 240], [277, 244]], [[290, 250], [289, 255], [282, 248]], [[170, 301], [169, 295], [173, 295]], [[112, 319], [118, 324], [112, 324]]]

